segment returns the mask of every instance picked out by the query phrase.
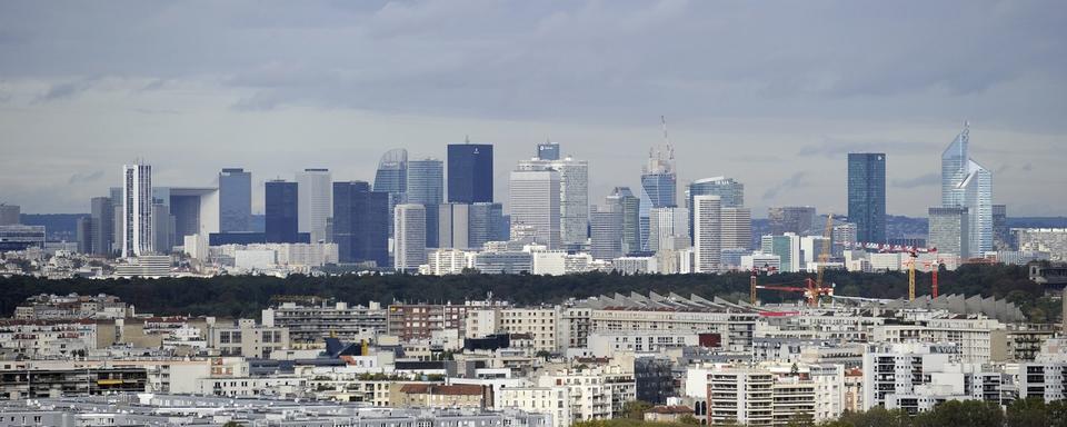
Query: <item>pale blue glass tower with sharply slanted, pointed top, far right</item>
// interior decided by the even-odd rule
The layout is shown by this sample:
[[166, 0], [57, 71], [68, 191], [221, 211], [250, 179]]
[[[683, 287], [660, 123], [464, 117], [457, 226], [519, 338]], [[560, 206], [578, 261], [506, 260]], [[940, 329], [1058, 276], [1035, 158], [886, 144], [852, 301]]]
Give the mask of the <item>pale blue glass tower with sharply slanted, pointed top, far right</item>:
[[941, 206], [965, 207], [969, 254], [979, 257], [993, 250], [993, 172], [969, 157], [970, 126], [956, 136], [941, 153]]

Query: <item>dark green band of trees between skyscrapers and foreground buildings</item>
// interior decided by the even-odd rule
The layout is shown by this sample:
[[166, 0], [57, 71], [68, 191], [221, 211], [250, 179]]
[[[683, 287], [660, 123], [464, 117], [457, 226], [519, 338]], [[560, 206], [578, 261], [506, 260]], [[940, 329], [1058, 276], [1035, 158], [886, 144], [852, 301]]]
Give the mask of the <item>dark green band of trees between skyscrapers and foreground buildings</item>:
[[[929, 275], [918, 274], [918, 295], [929, 294]], [[795, 285], [812, 275], [779, 274], [759, 277], [762, 285]], [[907, 274], [861, 274], [828, 270], [826, 282], [836, 284], [836, 294], [871, 298], [907, 296]], [[1025, 267], [968, 265], [941, 271], [941, 294], [966, 294], [1007, 298], [1020, 305], [1033, 320], [1055, 320], [1059, 310], [1044, 297], [1040, 286], [1027, 278]], [[280, 279], [266, 276], [218, 276], [211, 278], [162, 279], [64, 279], [47, 280], [16, 276], [0, 278], [0, 314], [10, 316], [27, 297], [38, 294], [110, 294], [133, 304], [138, 311], [158, 315], [258, 316], [278, 295], [336, 298], [350, 304], [379, 301], [452, 302], [485, 299], [491, 295], [517, 304], [559, 302], [597, 295], [629, 295], [631, 291], [666, 295], [690, 294], [728, 300], [748, 299], [749, 275], [622, 276], [590, 272], [570, 276], [480, 275], [452, 276], [330, 276], [301, 275]], [[760, 290], [765, 302], [796, 300], [800, 294]]]

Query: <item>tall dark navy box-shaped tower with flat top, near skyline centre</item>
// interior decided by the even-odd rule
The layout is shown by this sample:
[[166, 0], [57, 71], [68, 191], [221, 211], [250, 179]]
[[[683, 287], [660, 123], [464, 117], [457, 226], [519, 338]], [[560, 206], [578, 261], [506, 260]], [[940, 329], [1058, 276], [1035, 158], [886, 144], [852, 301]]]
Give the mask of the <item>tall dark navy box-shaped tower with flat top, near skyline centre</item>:
[[469, 140], [448, 145], [448, 201], [492, 201], [491, 145], [470, 143]]

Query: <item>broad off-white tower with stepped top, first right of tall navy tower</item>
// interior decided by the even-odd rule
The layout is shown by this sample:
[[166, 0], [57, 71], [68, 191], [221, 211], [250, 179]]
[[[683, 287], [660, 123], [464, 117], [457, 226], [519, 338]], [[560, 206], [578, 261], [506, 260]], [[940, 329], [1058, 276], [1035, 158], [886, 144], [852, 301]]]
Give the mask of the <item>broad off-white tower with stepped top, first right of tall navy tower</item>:
[[560, 183], [552, 169], [511, 171], [511, 224], [532, 227], [536, 240], [549, 249], [560, 247]]

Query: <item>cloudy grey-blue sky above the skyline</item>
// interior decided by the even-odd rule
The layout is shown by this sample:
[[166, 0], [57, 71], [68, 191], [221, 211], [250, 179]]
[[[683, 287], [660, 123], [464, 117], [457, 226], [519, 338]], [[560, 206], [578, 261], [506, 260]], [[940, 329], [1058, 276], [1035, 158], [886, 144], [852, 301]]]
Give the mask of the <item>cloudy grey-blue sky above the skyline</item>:
[[[637, 192], [649, 148], [679, 187], [846, 211], [847, 152], [887, 155], [888, 212], [939, 203], [941, 151], [1009, 216], [1067, 215], [1064, 1], [3, 1], [0, 201], [86, 212], [123, 163], [157, 186], [327, 167], [368, 180], [407, 148], [495, 145], [508, 171], [557, 141], [590, 202]], [[680, 199], [680, 196], [679, 196]]]

